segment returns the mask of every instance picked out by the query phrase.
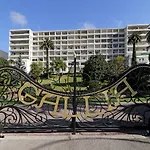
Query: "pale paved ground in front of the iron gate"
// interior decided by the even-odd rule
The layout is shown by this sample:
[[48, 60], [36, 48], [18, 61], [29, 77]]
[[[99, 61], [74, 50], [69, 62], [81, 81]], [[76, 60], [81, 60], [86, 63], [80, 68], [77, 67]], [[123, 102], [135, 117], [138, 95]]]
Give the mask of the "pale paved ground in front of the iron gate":
[[137, 134], [5, 134], [0, 150], [150, 150], [150, 137]]

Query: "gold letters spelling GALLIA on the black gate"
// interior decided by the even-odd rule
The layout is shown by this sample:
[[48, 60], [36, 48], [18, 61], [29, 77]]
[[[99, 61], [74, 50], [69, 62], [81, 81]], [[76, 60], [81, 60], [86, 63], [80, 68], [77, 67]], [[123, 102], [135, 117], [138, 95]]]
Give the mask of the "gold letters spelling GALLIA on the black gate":
[[[122, 84], [122, 83], [125, 84], [125, 87], [121, 91], [118, 91], [118, 86], [120, 84]], [[36, 104], [36, 102], [37, 102], [38, 99], [35, 96], [32, 96], [29, 93], [25, 93], [25, 95], [23, 96], [23, 90], [26, 89], [26, 88], [28, 88], [28, 87], [34, 89], [36, 96], [42, 95], [42, 98], [40, 99], [40, 103], [39, 104]], [[113, 90], [114, 93], [110, 93], [111, 90]], [[110, 89], [102, 91], [101, 93], [97, 93], [97, 94], [103, 94], [104, 98], [105, 98], [105, 101], [107, 103], [107, 110], [102, 109], [101, 112], [97, 111], [97, 112], [94, 112], [94, 113], [92, 112], [91, 113], [90, 109], [89, 109], [89, 99], [90, 99], [91, 96], [84, 96], [83, 100], [84, 100], [84, 103], [85, 103], [85, 115], [87, 117], [95, 117], [95, 116], [104, 114], [106, 111], [111, 111], [111, 110], [115, 109], [120, 104], [120, 96], [121, 96], [121, 94], [124, 93], [126, 90], [129, 90], [131, 92], [131, 96], [134, 96], [137, 93], [129, 85], [129, 83], [127, 82], [127, 78], [125, 77], [119, 83], [117, 83], [116, 85], [114, 85], [113, 87], [111, 87]], [[115, 98], [117, 100], [117, 102], [115, 103], [114, 106], [112, 106], [111, 101], [110, 101], [110, 96], [111, 95], [115, 96]], [[69, 97], [67, 97], [67, 96], [63, 96], [62, 97], [60, 95], [56, 95], [56, 94], [48, 93], [46, 91], [42, 91], [40, 89], [37, 89], [36, 86], [34, 86], [33, 84], [31, 84], [29, 82], [26, 82], [19, 89], [19, 91], [18, 91], [18, 97], [19, 97], [19, 100], [23, 104], [25, 104], [25, 105], [32, 105], [32, 104], [34, 104], [34, 106], [36, 108], [42, 108], [44, 104], [53, 105], [54, 109], [51, 112], [51, 114], [53, 116], [58, 116], [58, 117], [63, 117], [63, 118], [80, 117], [79, 114], [72, 115], [72, 114], [68, 113], [68, 100], [69, 100]], [[29, 98], [32, 101], [26, 101], [27, 98]], [[50, 98], [53, 98], [54, 101], [51, 101]], [[63, 100], [63, 103], [64, 103], [64, 108], [63, 108], [63, 112], [59, 114], [58, 107], [59, 107], [60, 101], [62, 101], [62, 100]]]

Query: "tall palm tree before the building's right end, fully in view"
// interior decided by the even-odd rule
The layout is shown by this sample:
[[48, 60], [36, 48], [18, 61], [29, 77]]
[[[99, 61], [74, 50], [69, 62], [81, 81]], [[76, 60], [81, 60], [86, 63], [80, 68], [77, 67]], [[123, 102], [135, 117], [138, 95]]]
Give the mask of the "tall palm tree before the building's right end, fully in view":
[[137, 43], [141, 42], [141, 36], [140, 33], [134, 32], [128, 37], [128, 44], [133, 45], [133, 51], [132, 51], [132, 65], [136, 65], [136, 48], [135, 45]]

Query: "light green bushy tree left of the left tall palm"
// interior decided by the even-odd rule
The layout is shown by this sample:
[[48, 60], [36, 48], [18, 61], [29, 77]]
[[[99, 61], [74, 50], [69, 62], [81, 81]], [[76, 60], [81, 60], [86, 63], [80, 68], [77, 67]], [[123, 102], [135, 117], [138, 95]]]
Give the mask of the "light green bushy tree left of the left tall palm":
[[43, 63], [42, 62], [33, 62], [31, 64], [31, 71], [30, 71], [30, 75], [38, 80], [39, 79], [39, 76], [42, 74], [43, 72]]

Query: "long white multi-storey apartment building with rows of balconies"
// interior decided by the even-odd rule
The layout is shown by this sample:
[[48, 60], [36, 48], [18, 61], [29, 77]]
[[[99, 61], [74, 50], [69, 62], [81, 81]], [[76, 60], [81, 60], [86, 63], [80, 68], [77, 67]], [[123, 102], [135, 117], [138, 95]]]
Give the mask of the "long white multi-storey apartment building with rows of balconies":
[[49, 50], [50, 62], [59, 57], [71, 67], [74, 52], [77, 55], [77, 68], [83, 68], [84, 62], [91, 55], [102, 54], [105, 59], [111, 60], [117, 56], [128, 56], [129, 63], [132, 56], [132, 45], [127, 45], [128, 35], [133, 31], [142, 31], [142, 41], [137, 45], [137, 61], [148, 63], [148, 49], [145, 35], [149, 24], [128, 25], [126, 28], [112, 29], [83, 29], [32, 31], [31, 29], [10, 30], [9, 59], [16, 60], [21, 54], [25, 61], [27, 72], [30, 64], [36, 61], [46, 62], [46, 52], [39, 47], [45, 38], [54, 43], [54, 50]]

